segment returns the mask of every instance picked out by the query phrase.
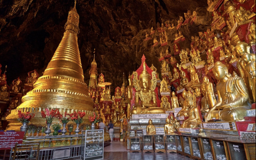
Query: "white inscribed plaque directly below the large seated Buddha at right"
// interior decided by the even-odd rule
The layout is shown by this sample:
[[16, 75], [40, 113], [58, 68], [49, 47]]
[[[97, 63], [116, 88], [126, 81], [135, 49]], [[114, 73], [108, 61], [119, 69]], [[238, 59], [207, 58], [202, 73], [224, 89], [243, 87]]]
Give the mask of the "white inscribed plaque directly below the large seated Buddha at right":
[[204, 129], [236, 130], [235, 122], [203, 123]]

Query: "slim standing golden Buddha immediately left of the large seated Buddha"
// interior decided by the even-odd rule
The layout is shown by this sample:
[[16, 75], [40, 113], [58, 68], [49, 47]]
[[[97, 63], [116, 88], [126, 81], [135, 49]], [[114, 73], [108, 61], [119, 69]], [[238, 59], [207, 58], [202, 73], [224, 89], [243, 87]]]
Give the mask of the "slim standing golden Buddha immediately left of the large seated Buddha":
[[207, 76], [204, 76], [203, 82], [205, 84], [205, 94], [208, 100], [208, 105], [210, 108], [212, 108], [217, 103], [215, 94], [213, 92], [213, 84], [209, 82], [209, 78]]

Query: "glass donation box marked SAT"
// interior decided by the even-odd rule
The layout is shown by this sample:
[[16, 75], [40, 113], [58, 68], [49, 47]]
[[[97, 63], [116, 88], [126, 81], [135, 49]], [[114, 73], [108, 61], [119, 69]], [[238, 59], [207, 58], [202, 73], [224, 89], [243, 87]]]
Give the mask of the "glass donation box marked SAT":
[[225, 141], [211, 139], [211, 144], [215, 160], [229, 160], [227, 143]]

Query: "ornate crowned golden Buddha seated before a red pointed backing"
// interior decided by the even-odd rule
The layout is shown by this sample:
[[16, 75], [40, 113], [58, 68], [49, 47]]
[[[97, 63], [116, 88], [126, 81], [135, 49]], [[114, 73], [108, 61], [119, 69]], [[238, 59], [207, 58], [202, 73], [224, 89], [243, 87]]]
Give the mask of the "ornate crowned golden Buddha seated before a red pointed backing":
[[150, 78], [144, 61], [139, 79], [137, 72], [133, 72], [136, 108], [132, 109], [132, 114], [165, 113], [164, 108], [159, 108], [156, 104], [156, 72], [152, 71], [152, 79]]

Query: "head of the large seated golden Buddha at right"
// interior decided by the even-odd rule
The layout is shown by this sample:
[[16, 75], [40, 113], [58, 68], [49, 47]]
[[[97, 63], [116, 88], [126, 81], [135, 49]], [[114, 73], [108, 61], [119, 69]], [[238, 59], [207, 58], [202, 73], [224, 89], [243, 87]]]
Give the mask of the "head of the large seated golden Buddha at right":
[[217, 61], [215, 63], [214, 68], [212, 69], [212, 72], [215, 76], [215, 78], [217, 80], [222, 80], [225, 77], [229, 78], [229, 74], [228, 74], [228, 68], [226, 65], [224, 65], [223, 63], [221, 63], [220, 61]]

